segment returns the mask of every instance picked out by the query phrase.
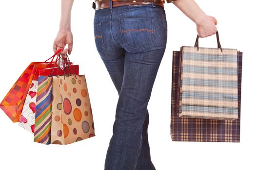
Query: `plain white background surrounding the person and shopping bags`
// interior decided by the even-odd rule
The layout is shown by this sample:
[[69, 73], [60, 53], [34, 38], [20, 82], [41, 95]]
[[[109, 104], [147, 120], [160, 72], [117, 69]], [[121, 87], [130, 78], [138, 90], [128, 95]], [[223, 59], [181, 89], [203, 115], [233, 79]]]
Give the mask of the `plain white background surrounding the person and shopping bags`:
[[[173, 142], [170, 136], [172, 51], [193, 46], [196, 25], [172, 3], [165, 3], [167, 49], [148, 104], [152, 161], [157, 170], [254, 169], [256, 153], [256, 24], [254, 0], [196, 0], [217, 18], [222, 48], [243, 51], [240, 143]], [[94, 42], [92, 0], [75, 0], [72, 9], [74, 48], [71, 61], [85, 74], [96, 136], [70, 145], [42, 145], [0, 110], [0, 170], [103, 170], [118, 93]], [[60, 0], [0, 0], [0, 98], [3, 99], [32, 61], [53, 54], [59, 30]], [[216, 36], [200, 38], [216, 47]]]

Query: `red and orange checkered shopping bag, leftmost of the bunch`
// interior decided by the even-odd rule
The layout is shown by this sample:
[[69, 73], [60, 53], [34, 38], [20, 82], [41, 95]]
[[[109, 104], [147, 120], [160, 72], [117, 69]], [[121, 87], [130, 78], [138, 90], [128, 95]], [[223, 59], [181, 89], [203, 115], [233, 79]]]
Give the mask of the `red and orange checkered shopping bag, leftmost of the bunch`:
[[[61, 49], [56, 51], [55, 55], [59, 53], [60, 50]], [[52, 62], [46, 61], [30, 63], [0, 103], [0, 108], [13, 122], [18, 122], [20, 120], [23, 104], [28, 94], [28, 90], [32, 83], [36, 69], [53, 66]]]

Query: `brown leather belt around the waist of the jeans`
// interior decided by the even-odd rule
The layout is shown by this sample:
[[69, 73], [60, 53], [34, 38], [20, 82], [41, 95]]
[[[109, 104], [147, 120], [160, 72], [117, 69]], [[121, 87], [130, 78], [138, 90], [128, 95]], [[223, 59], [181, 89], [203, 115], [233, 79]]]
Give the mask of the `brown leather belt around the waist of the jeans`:
[[[103, 8], [109, 8], [109, 1], [96, 1], [96, 9], [103, 9]], [[152, 4], [152, 2], [119, 2], [119, 1], [112, 1], [112, 7], [117, 6], [124, 6], [124, 5], [135, 5], [135, 4]], [[164, 7], [163, 3], [155, 3], [158, 6]]]

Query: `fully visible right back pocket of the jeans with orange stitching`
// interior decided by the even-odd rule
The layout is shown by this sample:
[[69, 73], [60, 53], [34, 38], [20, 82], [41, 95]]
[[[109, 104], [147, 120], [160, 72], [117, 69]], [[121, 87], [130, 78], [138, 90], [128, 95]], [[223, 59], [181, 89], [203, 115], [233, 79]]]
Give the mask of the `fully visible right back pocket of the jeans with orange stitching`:
[[119, 18], [119, 26], [124, 45], [139, 49], [153, 43], [155, 18]]

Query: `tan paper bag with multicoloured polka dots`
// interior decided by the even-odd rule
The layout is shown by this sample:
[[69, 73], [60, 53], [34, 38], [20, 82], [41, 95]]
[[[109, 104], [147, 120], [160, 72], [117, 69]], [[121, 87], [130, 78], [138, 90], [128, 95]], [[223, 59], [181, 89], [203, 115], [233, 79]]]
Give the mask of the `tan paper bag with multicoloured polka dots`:
[[53, 76], [51, 144], [95, 136], [85, 75]]

